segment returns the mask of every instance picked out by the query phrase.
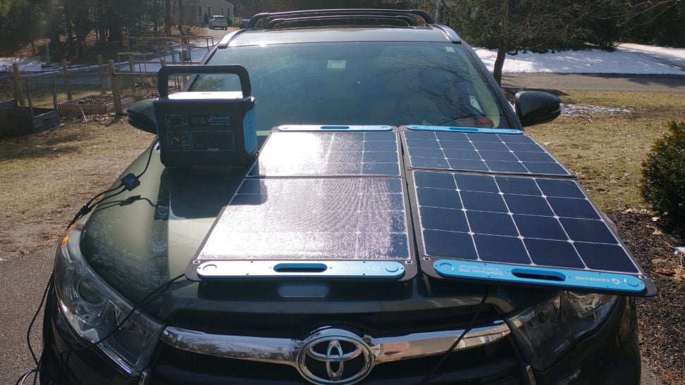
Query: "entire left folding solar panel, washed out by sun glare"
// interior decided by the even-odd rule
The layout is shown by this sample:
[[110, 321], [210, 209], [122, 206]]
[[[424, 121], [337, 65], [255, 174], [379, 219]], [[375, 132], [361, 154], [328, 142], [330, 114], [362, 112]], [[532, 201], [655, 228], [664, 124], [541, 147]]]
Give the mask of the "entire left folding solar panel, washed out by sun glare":
[[273, 132], [187, 277], [411, 279], [399, 154], [397, 132]]

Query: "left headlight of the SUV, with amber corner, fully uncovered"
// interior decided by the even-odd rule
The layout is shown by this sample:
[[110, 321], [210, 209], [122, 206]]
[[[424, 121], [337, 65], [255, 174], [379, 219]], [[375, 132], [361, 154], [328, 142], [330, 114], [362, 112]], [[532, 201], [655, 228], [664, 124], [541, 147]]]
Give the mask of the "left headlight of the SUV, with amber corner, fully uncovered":
[[[133, 306], [90, 268], [80, 253], [79, 238], [80, 231], [72, 229], [57, 250], [54, 282], [58, 309], [85, 343], [97, 343], [121, 370], [138, 374], [152, 355], [162, 325], [133, 311]], [[84, 341], [74, 342], [75, 346], [84, 345]]]

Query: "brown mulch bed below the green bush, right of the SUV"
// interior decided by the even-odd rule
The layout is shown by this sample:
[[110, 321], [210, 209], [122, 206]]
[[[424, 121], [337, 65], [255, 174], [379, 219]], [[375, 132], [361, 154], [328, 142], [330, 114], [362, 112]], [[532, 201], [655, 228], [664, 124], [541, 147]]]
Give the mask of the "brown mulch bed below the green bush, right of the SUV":
[[645, 212], [609, 213], [619, 235], [659, 293], [637, 300], [643, 362], [664, 384], [685, 384], [685, 239], [668, 234]]

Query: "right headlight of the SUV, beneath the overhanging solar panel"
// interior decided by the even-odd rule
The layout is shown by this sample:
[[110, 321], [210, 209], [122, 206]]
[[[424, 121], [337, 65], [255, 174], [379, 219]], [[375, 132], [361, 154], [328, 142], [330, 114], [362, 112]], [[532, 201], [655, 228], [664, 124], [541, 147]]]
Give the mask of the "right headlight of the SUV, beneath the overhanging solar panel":
[[582, 336], [597, 329], [617, 302], [606, 294], [562, 291], [510, 318], [514, 338], [531, 365], [544, 370]]

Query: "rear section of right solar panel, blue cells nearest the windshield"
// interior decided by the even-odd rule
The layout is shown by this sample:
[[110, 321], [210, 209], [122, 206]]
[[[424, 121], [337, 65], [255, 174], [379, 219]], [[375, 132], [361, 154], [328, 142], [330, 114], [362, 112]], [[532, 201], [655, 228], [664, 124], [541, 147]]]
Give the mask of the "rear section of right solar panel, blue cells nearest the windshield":
[[496, 132], [505, 130], [485, 133], [483, 130], [443, 132], [403, 128], [402, 138], [412, 168], [572, 175], [533, 138], [522, 132], [501, 134]]

